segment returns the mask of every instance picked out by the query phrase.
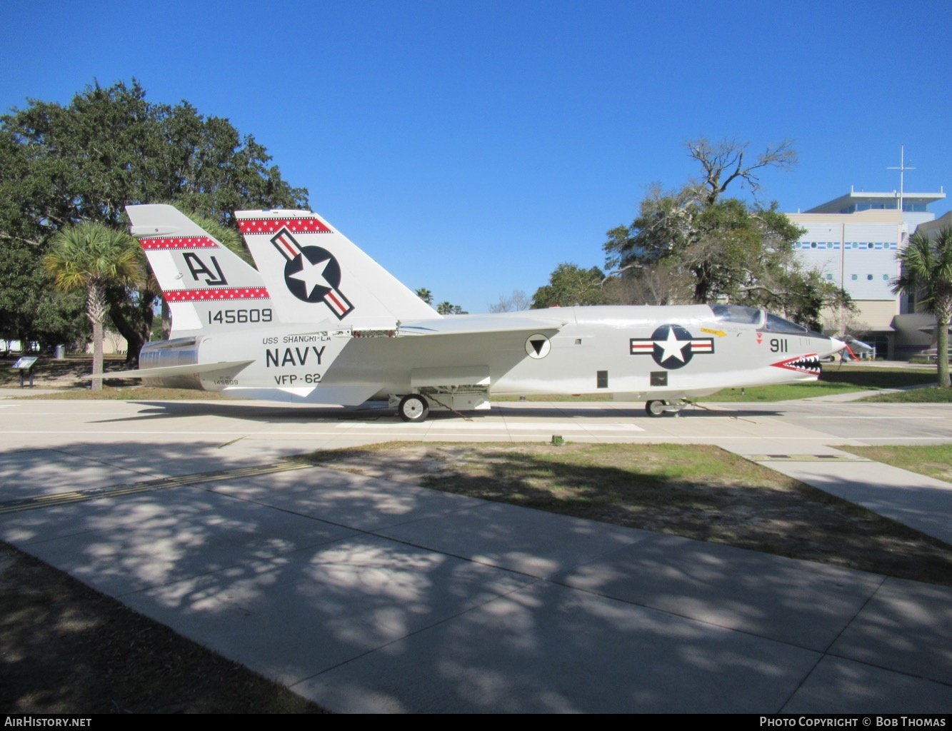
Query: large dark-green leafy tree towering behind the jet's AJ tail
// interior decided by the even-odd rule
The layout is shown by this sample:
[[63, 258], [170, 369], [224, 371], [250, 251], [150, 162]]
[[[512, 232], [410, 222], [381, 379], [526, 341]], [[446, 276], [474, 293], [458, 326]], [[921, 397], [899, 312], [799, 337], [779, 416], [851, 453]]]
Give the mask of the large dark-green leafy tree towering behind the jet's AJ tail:
[[[0, 242], [29, 247], [38, 259], [70, 225], [128, 227], [124, 207], [137, 203], [169, 201], [234, 230], [236, 209], [307, 207], [307, 190], [291, 188], [269, 162], [227, 119], [204, 117], [185, 101], [153, 104], [135, 80], [94, 84], [68, 106], [30, 100], [0, 116]], [[0, 258], [0, 279], [8, 274]], [[106, 290], [130, 365], [149, 339], [157, 294], [148, 280]]]

